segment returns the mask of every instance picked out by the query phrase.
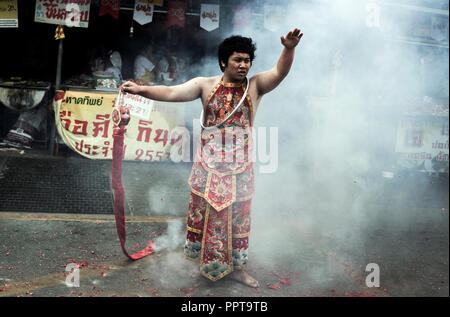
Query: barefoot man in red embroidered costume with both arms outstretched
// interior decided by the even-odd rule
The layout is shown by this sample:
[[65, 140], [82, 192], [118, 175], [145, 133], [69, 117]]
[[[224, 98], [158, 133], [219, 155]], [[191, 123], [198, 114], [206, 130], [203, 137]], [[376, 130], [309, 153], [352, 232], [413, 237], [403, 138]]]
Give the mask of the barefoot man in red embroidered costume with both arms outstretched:
[[132, 82], [122, 86], [125, 92], [153, 100], [202, 100], [205, 115], [201, 118], [201, 146], [189, 177], [191, 197], [184, 250], [185, 258], [199, 261], [200, 273], [210, 280], [232, 273], [233, 278], [250, 287], [259, 286], [243, 270], [254, 192], [251, 127], [262, 96], [288, 74], [302, 36], [297, 28], [281, 36], [284, 49], [277, 65], [248, 81], [255, 45], [250, 38], [232, 36], [219, 46], [223, 76], [197, 77], [176, 86], [138, 86]]

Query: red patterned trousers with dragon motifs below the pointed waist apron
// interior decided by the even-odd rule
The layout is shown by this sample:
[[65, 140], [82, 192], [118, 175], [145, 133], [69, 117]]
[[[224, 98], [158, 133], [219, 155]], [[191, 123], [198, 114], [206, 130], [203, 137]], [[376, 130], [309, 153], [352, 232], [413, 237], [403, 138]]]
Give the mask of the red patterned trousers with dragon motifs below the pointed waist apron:
[[251, 199], [217, 211], [191, 192], [184, 257], [200, 262], [200, 273], [217, 281], [247, 265]]

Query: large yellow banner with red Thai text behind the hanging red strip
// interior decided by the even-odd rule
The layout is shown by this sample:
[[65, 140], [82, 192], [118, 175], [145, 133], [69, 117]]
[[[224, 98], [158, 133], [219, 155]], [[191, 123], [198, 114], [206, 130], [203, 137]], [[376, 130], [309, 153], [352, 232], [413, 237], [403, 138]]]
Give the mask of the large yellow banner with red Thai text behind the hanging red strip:
[[[90, 159], [112, 159], [111, 114], [117, 93], [57, 91], [55, 124], [64, 143]], [[176, 127], [184, 126], [184, 104], [155, 101], [149, 119], [131, 114], [126, 126], [124, 160], [167, 161], [179, 143]]]

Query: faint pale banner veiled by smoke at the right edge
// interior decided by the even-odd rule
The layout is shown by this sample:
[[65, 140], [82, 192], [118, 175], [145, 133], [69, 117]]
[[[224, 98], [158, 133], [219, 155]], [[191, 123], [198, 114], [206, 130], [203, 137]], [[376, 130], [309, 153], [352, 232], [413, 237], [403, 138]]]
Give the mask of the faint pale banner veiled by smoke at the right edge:
[[448, 116], [405, 116], [397, 129], [398, 163], [429, 172], [449, 171]]

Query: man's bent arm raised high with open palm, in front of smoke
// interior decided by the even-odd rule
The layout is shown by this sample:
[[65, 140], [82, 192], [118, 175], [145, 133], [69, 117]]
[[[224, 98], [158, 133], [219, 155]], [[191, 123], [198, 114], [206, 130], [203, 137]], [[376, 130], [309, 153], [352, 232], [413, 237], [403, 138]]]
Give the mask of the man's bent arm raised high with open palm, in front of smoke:
[[295, 28], [294, 30], [289, 31], [286, 37], [280, 37], [284, 49], [277, 65], [268, 71], [255, 75], [254, 80], [260, 96], [277, 87], [289, 73], [292, 62], [294, 61], [295, 47], [300, 42], [302, 36], [303, 33], [300, 29]]

